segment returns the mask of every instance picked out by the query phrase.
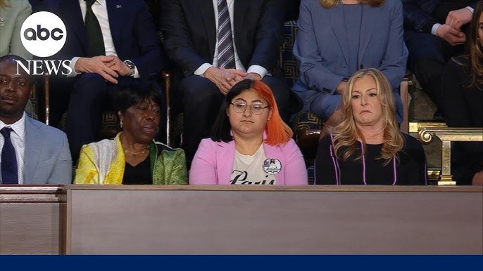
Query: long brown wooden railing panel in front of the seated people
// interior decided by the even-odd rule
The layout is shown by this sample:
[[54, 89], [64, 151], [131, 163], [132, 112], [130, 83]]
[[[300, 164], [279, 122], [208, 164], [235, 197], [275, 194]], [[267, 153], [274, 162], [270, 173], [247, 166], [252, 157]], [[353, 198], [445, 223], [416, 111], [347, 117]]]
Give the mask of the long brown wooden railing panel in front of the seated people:
[[475, 185], [0, 185], [0, 254], [482, 254], [482, 228]]

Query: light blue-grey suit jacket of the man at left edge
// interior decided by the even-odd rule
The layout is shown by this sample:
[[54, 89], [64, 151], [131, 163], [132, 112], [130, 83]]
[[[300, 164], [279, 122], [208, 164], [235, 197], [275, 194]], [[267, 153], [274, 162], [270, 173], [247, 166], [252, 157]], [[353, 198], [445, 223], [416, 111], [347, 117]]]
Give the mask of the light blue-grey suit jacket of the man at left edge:
[[25, 118], [26, 185], [72, 183], [72, 159], [63, 131]]

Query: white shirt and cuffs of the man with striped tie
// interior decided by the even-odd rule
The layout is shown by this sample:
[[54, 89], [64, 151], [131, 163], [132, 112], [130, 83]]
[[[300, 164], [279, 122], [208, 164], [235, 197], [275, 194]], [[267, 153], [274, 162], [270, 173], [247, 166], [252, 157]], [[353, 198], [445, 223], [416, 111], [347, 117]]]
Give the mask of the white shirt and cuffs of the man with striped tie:
[[[234, 62], [237, 70], [242, 70], [244, 72], [254, 72], [260, 75], [261, 78], [268, 74], [267, 69], [260, 65], [251, 65], [248, 70], [243, 67], [242, 61], [240, 60], [237, 53], [237, 44], [234, 42], [234, 30], [233, 30], [233, 13], [234, 13], [234, 0], [227, 0], [228, 13], [230, 14], [230, 23], [232, 24], [232, 41], [233, 41], [233, 51], [234, 51]], [[196, 75], [203, 75], [209, 67], [218, 67], [218, 0], [213, 0], [213, 9], [215, 10], [215, 27], [216, 27], [216, 46], [215, 55], [213, 57], [213, 64], [204, 63], [198, 69], [194, 71]]]

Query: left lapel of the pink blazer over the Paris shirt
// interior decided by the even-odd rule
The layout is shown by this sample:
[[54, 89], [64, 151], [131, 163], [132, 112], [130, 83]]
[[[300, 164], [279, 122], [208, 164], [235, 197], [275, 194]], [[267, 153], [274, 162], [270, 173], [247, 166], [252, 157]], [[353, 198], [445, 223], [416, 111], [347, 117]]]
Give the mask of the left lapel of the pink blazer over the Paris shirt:
[[218, 184], [230, 185], [234, 162], [234, 140], [229, 143], [218, 142], [217, 144], [219, 148], [215, 155]]

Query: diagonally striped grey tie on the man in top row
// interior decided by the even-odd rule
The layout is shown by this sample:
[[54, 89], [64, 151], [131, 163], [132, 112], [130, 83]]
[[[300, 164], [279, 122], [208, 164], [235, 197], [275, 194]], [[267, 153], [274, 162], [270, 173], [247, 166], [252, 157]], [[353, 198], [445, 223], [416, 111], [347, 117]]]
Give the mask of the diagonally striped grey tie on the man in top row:
[[232, 24], [227, 0], [218, 0], [218, 67], [234, 69]]

